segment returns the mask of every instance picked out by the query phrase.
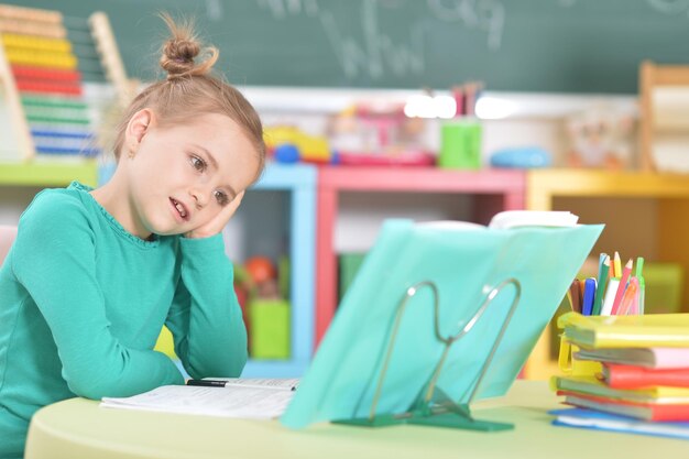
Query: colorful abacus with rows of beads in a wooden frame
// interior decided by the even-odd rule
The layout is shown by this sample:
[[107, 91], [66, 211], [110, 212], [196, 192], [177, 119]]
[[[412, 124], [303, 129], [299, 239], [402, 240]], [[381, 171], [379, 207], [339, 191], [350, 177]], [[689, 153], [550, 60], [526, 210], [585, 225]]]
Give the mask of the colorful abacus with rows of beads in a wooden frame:
[[[81, 26], [79, 57], [70, 40], [74, 26], [66, 22]], [[99, 153], [85, 74], [112, 83], [120, 100], [128, 97], [131, 85], [105, 13], [79, 21], [57, 11], [0, 4], [0, 83], [23, 157]]]

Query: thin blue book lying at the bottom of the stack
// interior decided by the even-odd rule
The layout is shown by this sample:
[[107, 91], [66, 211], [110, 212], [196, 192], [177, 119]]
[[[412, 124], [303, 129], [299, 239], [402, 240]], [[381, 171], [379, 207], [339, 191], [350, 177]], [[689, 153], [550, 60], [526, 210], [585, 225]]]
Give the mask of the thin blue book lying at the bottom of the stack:
[[556, 416], [553, 420], [556, 426], [689, 440], [689, 423], [686, 422], [657, 423], [586, 408], [554, 409], [548, 414]]

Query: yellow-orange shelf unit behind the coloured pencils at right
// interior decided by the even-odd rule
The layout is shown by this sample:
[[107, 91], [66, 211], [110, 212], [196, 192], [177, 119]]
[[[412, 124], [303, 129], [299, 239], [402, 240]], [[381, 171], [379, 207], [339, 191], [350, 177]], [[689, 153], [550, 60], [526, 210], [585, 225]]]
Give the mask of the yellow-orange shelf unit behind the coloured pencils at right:
[[[683, 266], [682, 312], [689, 312], [689, 177], [678, 174], [583, 170], [529, 171], [526, 208], [571, 210], [580, 223], [605, 223], [592, 250], [621, 252], [623, 259]], [[648, 285], [647, 285], [648, 288]], [[551, 325], [553, 326], [553, 325]], [[549, 326], [549, 327], [551, 327]], [[528, 379], [558, 373], [553, 350], [555, 334], [546, 329], [525, 368]]]

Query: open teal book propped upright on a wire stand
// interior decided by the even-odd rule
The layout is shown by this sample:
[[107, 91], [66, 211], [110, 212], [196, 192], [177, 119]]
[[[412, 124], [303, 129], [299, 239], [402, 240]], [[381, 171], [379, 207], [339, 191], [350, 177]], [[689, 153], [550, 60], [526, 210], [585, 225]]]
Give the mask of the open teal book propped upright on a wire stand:
[[386, 221], [281, 423], [513, 428], [470, 405], [507, 392], [602, 229]]

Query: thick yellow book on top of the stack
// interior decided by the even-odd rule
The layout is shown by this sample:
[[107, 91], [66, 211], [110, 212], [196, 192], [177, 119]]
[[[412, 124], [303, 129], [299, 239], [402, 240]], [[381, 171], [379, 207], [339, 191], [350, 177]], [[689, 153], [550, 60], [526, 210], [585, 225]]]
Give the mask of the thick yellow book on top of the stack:
[[564, 338], [581, 348], [687, 348], [689, 314], [582, 316], [567, 313], [557, 320]]

